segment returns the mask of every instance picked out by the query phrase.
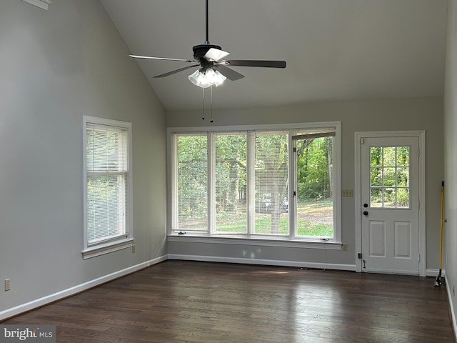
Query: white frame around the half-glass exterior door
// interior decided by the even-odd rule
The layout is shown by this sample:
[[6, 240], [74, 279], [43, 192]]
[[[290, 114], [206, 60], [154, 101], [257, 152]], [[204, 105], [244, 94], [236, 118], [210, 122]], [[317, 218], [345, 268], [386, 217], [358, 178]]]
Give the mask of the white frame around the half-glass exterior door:
[[425, 131], [369, 131], [356, 132], [355, 141], [355, 170], [354, 207], [356, 224], [356, 272], [362, 272], [362, 261], [358, 254], [362, 252], [362, 205], [361, 205], [361, 144], [362, 138], [372, 137], [418, 137], [418, 196], [419, 196], [419, 276], [426, 276], [426, 132]]

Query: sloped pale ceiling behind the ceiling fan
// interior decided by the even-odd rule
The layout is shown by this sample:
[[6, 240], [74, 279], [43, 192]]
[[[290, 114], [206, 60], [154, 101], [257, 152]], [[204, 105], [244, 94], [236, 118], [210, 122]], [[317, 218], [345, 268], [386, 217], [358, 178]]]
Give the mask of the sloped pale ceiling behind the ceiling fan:
[[[443, 94], [447, 0], [209, 0], [209, 41], [227, 59], [285, 60], [214, 89], [214, 107]], [[193, 59], [204, 0], [101, 0], [132, 54]], [[139, 60], [167, 110], [200, 109], [179, 61]], [[206, 91], [209, 96], [209, 91]]]

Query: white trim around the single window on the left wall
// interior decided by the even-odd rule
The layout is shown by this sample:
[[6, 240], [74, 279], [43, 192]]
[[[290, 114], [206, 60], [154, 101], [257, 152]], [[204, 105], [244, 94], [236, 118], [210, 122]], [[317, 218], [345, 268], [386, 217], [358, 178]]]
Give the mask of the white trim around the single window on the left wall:
[[[91, 245], [87, 243], [87, 173], [86, 173], [86, 126], [87, 124], [114, 126], [125, 129], [127, 133], [127, 177], [126, 177], [126, 231], [127, 236], [121, 239], [112, 240], [101, 244]], [[84, 248], [83, 259], [90, 259], [110, 252], [132, 247], [134, 249], [134, 228], [133, 228], [133, 182], [132, 182], [132, 139], [131, 123], [112, 119], [98, 118], [95, 116], [83, 116], [83, 212], [84, 212]]]

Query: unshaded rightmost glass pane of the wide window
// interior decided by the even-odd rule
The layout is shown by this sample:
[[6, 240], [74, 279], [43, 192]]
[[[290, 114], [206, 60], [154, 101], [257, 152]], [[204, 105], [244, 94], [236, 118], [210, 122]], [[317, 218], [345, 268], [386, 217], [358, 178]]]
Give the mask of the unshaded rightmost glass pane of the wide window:
[[333, 137], [297, 141], [297, 235], [333, 237]]

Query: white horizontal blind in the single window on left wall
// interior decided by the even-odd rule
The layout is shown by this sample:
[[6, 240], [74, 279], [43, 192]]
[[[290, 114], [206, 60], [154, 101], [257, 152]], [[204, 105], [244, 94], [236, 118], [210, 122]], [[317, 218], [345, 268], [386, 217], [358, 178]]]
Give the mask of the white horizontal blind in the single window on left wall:
[[87, 244], [127, 236], [127, 131], [86, 124]]

